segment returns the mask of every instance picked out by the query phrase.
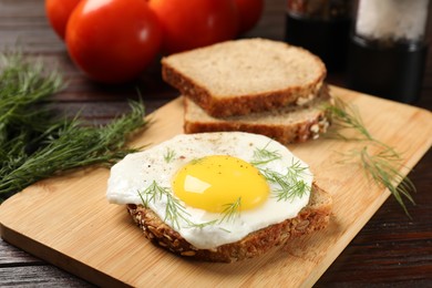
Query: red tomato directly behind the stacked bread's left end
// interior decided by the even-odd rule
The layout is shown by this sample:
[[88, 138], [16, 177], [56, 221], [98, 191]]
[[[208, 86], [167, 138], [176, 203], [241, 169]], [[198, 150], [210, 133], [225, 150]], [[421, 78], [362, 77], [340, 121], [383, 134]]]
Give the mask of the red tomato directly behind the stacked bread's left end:
[[163, 29], [163, 50], [179, 52], [233, 39], [238, 14], [233, 0], [150, 0]]

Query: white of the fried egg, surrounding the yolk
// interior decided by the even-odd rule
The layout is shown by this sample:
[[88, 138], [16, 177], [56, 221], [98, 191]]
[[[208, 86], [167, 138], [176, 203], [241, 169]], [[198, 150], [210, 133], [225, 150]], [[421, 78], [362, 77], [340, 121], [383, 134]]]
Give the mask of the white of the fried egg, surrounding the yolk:
[[[217, 222], [204, 227], [191, 227], [182, 219], [179, 219], [177, 227], [169, 219], [166, 219], [165, 196], [161, 200], [148, 203], [148, 207], [161, 219], [165, 219], [167, 225], [196, 248], [210, 249], [234, 243], [255, 230], [296, 217], [309, 202], [313, 179], [309, 166], [296, 157], [287, 147], [269, 137], [244, 132], [177, 135], [143, 152], [130, 154], [115, 164], [111, 168], [106, 197], [113, 204], [143, 205], [138, 192], [145, 191], [153, 182], [172, 191], [171, 183], [174, 175], [192, 160], [209, 155], [230, 155], [250, 163], [254, 151], [264, 147], [268, 151], [277, 151], [281, 157], [259, 167], [285, 174], [290, 164], [300, 163], [305, 167], [301, 178], [309, 187], [307, 193], [301, 197], [294, 197], [289, 200], [277, 200], [276, 197], [271, 196], [271, 192], [278, 189], [278, 186], [269, 183], [270, 196], [263, 205], [240, 212], [238, 217], [233, 220]], [[169, 162], [165, 160], [168, 151], [174, 152], [174, 157]], [[223, 217], [217, 213], [189, 207], [184, 203], [183, 205], [188, 214], [188, 219], [194, 224], [208, 223]]]

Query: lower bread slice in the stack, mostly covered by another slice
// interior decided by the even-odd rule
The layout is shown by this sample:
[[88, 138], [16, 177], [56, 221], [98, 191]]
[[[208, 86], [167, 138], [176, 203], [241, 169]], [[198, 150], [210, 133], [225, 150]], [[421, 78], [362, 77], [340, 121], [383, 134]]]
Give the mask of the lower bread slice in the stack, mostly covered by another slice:
[[301, 106], [287, 105], [267, 112], [217, 119], [184, 97], [184, 132], [243, 131], [263, 134], [282, 144], [305, 142], [326, 133], [329, 126], [326, 107], [330, 102], [330, 94], [323, 85], [317, 97]]

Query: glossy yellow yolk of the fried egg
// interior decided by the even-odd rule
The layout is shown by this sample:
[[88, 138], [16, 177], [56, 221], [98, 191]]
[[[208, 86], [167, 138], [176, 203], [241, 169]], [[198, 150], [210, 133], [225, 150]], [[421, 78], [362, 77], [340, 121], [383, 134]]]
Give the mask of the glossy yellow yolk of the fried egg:
[[173, 178], [174, 194], [185, 204], [213, 213], [223, 213], [240, 198], [240, 210], [263, 204], [269, 186], [249, 163], [226, 155], [194, 160]]

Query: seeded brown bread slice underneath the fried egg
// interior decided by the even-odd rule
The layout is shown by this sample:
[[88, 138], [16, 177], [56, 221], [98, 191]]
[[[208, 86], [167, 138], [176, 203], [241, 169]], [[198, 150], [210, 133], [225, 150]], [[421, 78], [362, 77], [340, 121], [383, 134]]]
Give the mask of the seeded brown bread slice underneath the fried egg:
[[297, 217], [250, 233], [239, 241], [225, 244], [214, 249], [198, 249], [167, 226], [153, 210], [142, 205], [127, 205], [134, 222], [146, 238], [172, 253], [206, 261], [233, 263], [263, 255], [285, 245], [289, 239], [327, 227], [332, 199], [330, 194], [312, 184], [309, 204]]

